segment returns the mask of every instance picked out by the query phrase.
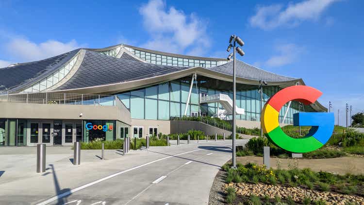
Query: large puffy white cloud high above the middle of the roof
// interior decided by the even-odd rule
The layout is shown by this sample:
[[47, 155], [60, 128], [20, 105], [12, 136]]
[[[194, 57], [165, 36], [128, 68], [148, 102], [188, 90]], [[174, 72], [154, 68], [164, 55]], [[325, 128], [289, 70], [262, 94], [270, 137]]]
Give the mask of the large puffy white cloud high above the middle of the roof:
[[162, 0], [149, 0], [139, 8], [143, 24], [151, 39], [142, 47], [168, 51], [202, 54], [210, 47], [206, 22], [195, 14], [186, 15], [174, 7], [166, 8]]

